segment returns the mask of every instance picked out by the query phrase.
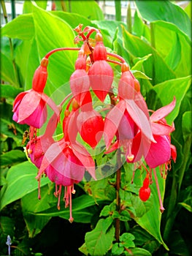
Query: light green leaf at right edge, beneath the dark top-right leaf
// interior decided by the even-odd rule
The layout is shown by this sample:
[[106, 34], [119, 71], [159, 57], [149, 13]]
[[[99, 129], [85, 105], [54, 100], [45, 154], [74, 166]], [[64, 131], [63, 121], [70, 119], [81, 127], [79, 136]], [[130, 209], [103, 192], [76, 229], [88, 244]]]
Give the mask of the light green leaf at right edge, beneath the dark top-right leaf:
[[[172, 23], [153, 22], [155, 49], [177, 77], [191, 75], [191, 40]], [[164, 40], [162, 40], [164, 35]]]

